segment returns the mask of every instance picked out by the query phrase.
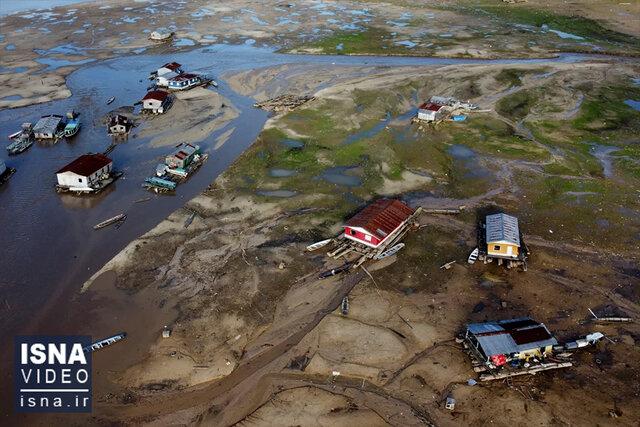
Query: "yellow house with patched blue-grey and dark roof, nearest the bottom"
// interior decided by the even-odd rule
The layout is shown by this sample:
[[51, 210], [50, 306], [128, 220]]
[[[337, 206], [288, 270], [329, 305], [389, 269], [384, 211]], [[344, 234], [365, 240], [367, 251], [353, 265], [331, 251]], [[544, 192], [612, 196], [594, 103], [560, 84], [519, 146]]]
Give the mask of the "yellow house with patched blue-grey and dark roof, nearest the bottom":
[[543, 358], [558, 344], [543, 323], [529, 317], [468, 324], [464, 339], [479, 361], [493, 367]]

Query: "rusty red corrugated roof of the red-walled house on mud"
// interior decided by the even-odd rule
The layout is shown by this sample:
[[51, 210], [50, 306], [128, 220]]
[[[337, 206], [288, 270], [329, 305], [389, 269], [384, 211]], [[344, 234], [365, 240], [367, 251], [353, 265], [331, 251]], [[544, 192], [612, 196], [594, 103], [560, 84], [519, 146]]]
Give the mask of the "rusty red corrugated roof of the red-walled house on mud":
[[359, 227], [384, 239], [413, 214], [413, 209], [399, 200], [381, 199], [371, 203], [347, 221], [348, 227]]

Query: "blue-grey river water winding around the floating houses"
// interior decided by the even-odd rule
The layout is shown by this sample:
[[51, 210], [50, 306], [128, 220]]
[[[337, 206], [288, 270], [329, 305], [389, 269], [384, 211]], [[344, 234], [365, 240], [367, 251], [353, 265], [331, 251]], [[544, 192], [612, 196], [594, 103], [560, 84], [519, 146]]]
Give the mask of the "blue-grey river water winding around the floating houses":
[[[429, 66], [575, 62], [584, 58], [582, 55], [562, 55], [554, 60], [482, 61], [307, 56], [282, 55], [252, 46], [215, 45], [190, 52], [126, 56], [85, 64], [67, 79], [73, 94], [70, 98], [0, 111], [0, 135], [3, 138], [18, 130], [22, 122], [35, 123], [44, 114], [64, 114], [71, 109], [81, 113], [83, 126], [70, 142], [62, 140], [50, 146], [36, 143], [27, 152], [10, 158], [4, 150], [0, 154], [9, 166], [17, 169], [9, 182], [0, 187], [0, 237], [4, 243], [0, 256], [2, 336], [12, 339], [12, 336], [29, 330], [29, 320], [37, 317], [40, 308], [56, 294], [79, 289], [131, 240], [201, 193], [260, 133], [268, 118], [267, 113], [254, 109], [252, 99], [235, 93], [218, 79], [217, 90], [238, 108], [240, 115], [199, 143], [204, 151], [210, 152], [210, 158], [187, 183], [178, 187], [175, 196], [155, 196], [141, 187], [144, 178], [153, 174], [158, 160], [171, 150], [171, 147], [152, 148], [145, 138], [130, 138], [110, 154], [115, 168], [124, 171], [125, 176], [102, 194], [88, 198], [57, 194], [53, 188], [55, 171], [80, 154], [104, 151], [111, 140], [100, 119], [116, 106], [133, 105], [138, 101], [149, 84], [146, 78], [149, 71], [165, 62], [175, 60], [187, 70], [220, 76], [232, 70], [286, 63]], [[34, 84], [38, 84], [37, 75], [31, 78]], [[106, 100], [110, 96], [116, 96], [116, 101], [107, 106]], [[229, 129], [233, 129], [229, 140], [214, 150], [216, 138]], [[149, 196], [152, 200], [135, 203]], [[126, 213], [128, 219], [119, 229], [92, 229], [94, 224], [121, 212]]]

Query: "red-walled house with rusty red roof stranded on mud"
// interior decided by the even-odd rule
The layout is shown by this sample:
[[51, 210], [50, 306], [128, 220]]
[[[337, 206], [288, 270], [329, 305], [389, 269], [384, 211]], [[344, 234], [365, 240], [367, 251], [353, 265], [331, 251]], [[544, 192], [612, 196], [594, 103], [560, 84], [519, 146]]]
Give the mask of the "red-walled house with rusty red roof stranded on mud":
[[413, 213], [413, 209], [399, 200], [377, 200], [347, 221], [344, 237], [377, 248], [399, 230]]

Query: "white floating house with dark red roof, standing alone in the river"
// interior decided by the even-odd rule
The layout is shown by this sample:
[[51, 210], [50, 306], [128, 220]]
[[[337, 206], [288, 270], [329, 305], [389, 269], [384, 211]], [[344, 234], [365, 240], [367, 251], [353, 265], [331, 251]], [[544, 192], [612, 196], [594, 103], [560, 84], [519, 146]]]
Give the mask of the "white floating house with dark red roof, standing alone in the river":
[[113, 161], [104, 154], [83, 154], [58, 172], [58, 186], [73, 191], [92, 191], [95, 184], [113, 169]]

